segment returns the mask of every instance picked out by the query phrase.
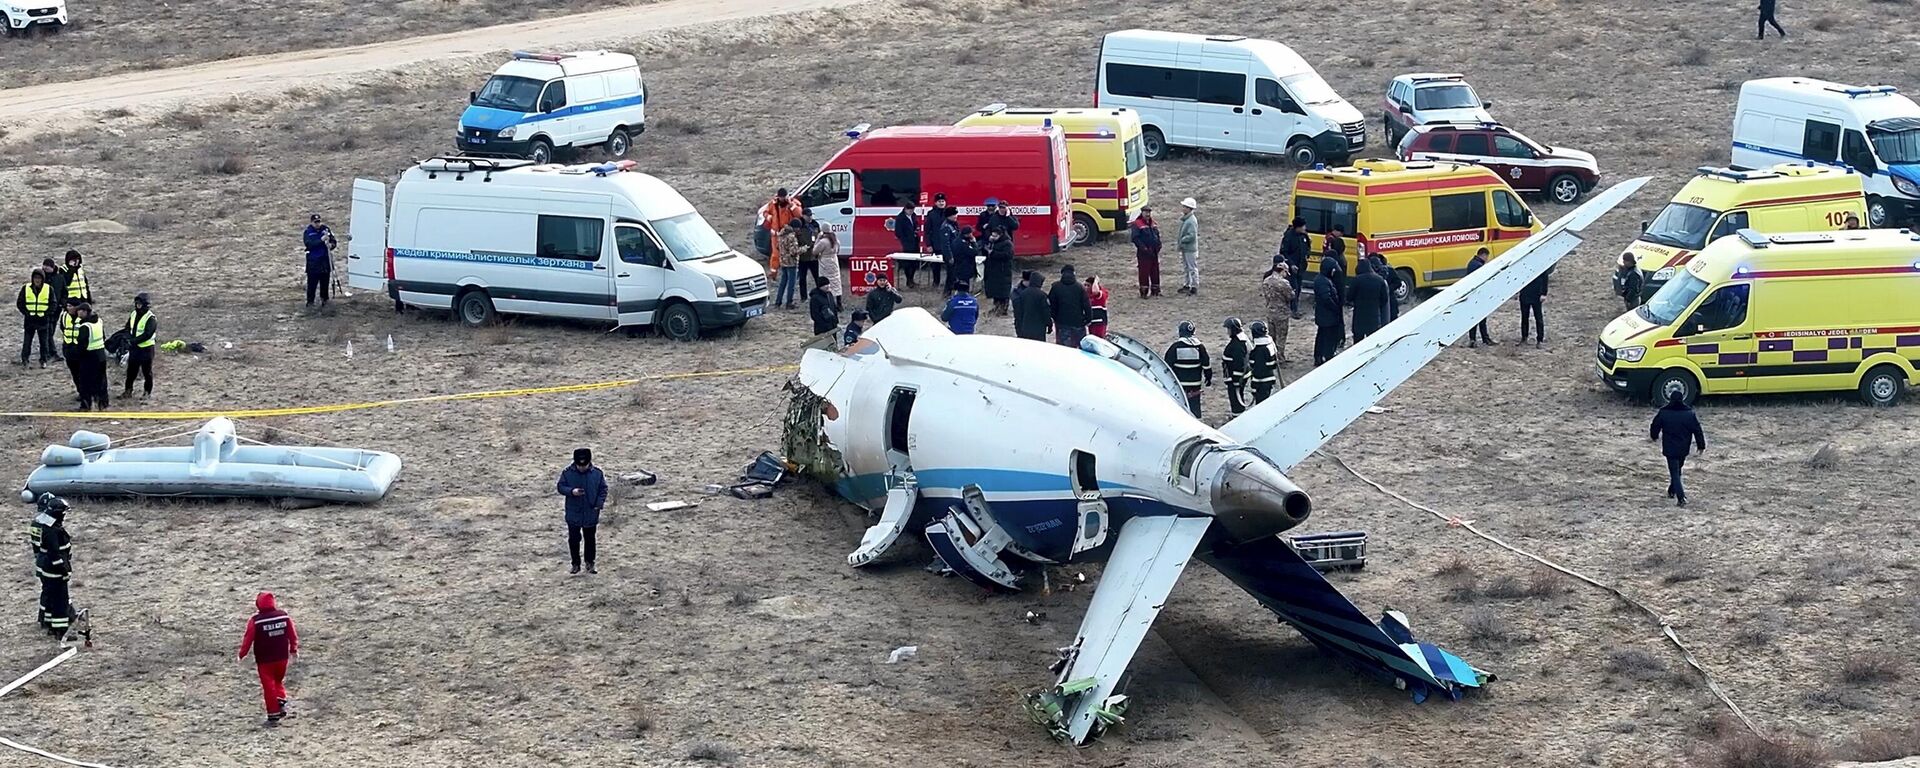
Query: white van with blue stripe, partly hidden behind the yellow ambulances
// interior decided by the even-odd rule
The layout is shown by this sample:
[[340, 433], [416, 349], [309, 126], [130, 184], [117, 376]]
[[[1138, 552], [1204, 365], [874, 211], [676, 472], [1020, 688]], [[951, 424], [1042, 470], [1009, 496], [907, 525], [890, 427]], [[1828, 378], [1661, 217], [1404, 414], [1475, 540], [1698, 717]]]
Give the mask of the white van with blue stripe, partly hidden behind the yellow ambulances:
[[1845, 167], [1866, 186], [1866, 227], [1920, 213], [1920, 106], [1891, 84], [1770, 77], [1740, 86], [1734, 167], [1782, 159]]

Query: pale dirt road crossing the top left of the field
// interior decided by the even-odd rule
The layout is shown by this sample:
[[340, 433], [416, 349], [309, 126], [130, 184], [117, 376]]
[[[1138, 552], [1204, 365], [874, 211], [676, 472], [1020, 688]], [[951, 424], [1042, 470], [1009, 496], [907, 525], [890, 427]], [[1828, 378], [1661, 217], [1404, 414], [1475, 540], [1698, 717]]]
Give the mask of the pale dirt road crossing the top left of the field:
[[342, 83], [349, 75], [399, 69], [422, 61], [490, 56], [507, 50], [580, 48], [593, 40], [632, 38], [641, 31], [659, 33], [856, 2], [860, 0], [783, 0], [774, 6], [764, 0], [670, 0], [409, 40], [248, 56], [190, 67], [48, 83], [0, 90], [0, 129], [19, 138], [71, 129], [88, 111], [140, 111], [163, 104], [211, 102], [269, 88]]

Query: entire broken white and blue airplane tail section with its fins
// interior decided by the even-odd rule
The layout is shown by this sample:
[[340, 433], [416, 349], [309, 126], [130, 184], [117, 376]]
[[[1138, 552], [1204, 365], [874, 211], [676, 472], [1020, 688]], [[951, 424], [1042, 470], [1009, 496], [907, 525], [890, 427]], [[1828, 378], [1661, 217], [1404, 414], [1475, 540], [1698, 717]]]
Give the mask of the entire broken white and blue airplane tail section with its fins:
[[902, 309], [843, 351], [806, 351], [787, 451], [879, 513], [852, 566], [910, 530], [991, 589], [1020, 589], [1023, 563], [1106, 563], [1054, 685], [1029, 697], [1064, 739], [1085, 743], [1119, 720], [1116, 687], [1192, 557], [1354, 668], [1415, 699], [1459, 697], [1490, 676], [1415, 641], [1400, 614], [1373, 622], [1277, 536], [1311, 511], [1286, 470], [1638, 186], [1596, 196], [1221, 428], [1187, 413], [1171, 371], [1139, 342], [954, 336]]

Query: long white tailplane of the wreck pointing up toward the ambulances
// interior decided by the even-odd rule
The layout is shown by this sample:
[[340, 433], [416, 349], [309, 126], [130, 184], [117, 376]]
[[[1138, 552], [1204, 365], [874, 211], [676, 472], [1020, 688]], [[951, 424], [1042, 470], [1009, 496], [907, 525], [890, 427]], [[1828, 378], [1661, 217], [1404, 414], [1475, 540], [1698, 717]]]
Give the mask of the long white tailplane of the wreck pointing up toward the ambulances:
[[1588, 225], [1645, 182], [1645, 177], [1624, 180], [1594, 196], [1486, 267], [1296, 378], [1265, 403], [1229, 420], [1221, 432], [1258, 447], [1281, 470], [1292, 468], [1571, 253]]

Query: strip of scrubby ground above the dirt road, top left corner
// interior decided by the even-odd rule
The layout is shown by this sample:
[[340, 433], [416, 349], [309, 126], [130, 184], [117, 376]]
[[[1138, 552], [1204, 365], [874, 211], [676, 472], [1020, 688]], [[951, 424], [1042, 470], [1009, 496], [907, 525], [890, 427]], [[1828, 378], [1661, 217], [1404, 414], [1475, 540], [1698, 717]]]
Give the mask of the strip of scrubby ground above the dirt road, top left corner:
[[0, 88], [286, 50], [357, 46], [647, 0], [86, 0], [71, 27], [0, 40]]

